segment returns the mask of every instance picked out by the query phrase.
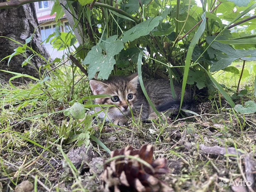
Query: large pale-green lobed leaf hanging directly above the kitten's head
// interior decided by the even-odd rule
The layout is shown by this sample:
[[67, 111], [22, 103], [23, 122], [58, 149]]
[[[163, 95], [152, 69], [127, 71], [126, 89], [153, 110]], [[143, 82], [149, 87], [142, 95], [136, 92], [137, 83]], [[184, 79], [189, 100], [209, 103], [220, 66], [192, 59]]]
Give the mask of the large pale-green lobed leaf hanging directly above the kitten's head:
[[[122, 41], [117, 40], [117, 35], [111, 36], [100, 44], [92, 47], [88, 52], [83, 64], [88, 66], [88, 78], [94, 78], [97, 71], [98, 79], [108, 79], [111, 71], [116, 64], [114, 55], [118, 54], [124, 48]], [[106, 52], [102, 54], [102, 50]]]

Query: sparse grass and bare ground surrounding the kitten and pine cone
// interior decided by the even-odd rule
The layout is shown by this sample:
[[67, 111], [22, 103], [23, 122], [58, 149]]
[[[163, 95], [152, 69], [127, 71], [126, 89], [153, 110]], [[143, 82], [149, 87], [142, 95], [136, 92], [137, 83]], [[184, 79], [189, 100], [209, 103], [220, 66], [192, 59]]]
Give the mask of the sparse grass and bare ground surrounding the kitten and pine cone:
[[[233, 65], [238, 64], [241, 62]], [[246, 63], [246, 69], [253, 64]], [[241, 89], [246, 85], [253, 87], [255, 74], [251, 70], [249, 74], [242, 78]], [[235, 90], [239, 75], [219, 71], [214, 78]], [[164, 123], [158, 119], [149, 124], [133, 119], [127, 127], [115, 127], [63, 115], [65, 108], [90, 94], [87, 79], [79, 81], [72, 90], [78, 79], [79, 71], [73, 81], [70, 66], [63, 66], [42, 83], [0, 86], [0, 191], [12, 191], [23, 180], [34, 183], [37, 191], [100, 191], [102, 164], [95, 166], [92, 158], [85, 158], [78, 165], [79, 161], [70, 156], [79, 142], [87, 147], [82, 152], [86, 157], [102, 160], [110, 158], [110, 151], [127, 145], [138, 149], [142, 144], [152, 144], [155, 158], [168, 159], [170, 173], [162, 179], [179, 192], [229, 191], [230, 188], [217, 185], [220, 178], [241, 176], [236, 159], [208, 155], [200, 149], [201, 144], [255, 151], [255, 116], [235, 113], [226, 107], [217, 91], [209, 115], [175, 122], [164, 118]], [[236, 104], [255, 100], [253, 91]], [[86, 138], [87, 133], [91, 134], [90, 139]]]

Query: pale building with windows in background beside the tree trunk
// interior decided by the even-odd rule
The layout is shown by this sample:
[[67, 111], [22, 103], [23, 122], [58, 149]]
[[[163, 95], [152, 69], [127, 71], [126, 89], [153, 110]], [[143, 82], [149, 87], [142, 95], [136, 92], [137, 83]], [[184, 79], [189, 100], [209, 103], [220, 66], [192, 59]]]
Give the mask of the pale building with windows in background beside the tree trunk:
[[[36, 8], [37, 20], [41, 29], [40, 31], [42, 41], [44, 41], [50, 34], [52, 34], [55, 31], [55, 14], [50, 15], [54, 2], [39, 1], [34, 2], [34, 4]], [[68, 32], [69, 25], [65, 15], [60, 19], [60, 21], [63, 23], [63, 26], [60, 26], [60, 31]], [[56, 57], [61, 58], [64, 54], [63, 50], [58, 51], [57, 49], [54, 49], [49, 42], [45, 43], [44, 46], [46, 47], [46, 50], [48, 51], [52, 59], [55, 59]]]

